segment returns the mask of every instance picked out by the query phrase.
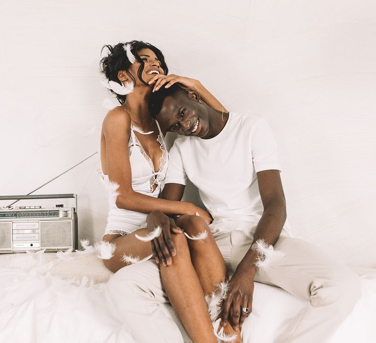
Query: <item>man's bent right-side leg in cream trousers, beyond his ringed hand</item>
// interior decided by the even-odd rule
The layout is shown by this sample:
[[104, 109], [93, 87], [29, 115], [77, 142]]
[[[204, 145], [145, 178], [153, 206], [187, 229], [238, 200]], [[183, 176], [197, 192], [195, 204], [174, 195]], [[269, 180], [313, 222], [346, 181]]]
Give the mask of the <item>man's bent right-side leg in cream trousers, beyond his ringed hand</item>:
[[[231, 269], [235, 270], [253, 237], [235, 232]], [[352, 312], [361, 296], [360, 278], [335, 262], [321, 249], [301, 239], [281, 236], [274, 249], [285, 255], [258, 270], [254, 280], [281, 287], [307, 300], [307, 305], [289, 323], [277, 343], [326, 342]]]

